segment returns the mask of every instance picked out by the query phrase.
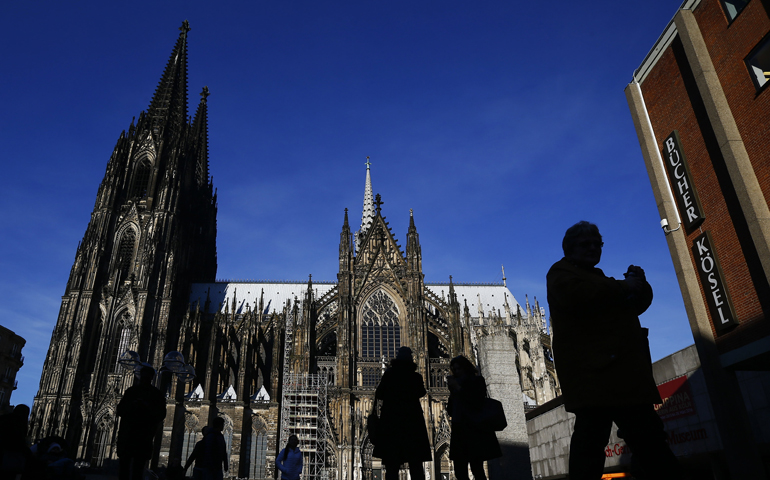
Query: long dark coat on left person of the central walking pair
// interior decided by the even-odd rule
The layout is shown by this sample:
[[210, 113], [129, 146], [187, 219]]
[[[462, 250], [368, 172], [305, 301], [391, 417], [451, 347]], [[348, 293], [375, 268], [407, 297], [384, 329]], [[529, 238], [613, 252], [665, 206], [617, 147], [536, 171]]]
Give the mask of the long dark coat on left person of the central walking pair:
[[427, 462], [432, 459], [428, 429], [420, 406], [425, 396], [422, 375], [413, 362], [393, 360], [374, 396], [382, 400], [377, 445], [372, 456], [384, 463]]

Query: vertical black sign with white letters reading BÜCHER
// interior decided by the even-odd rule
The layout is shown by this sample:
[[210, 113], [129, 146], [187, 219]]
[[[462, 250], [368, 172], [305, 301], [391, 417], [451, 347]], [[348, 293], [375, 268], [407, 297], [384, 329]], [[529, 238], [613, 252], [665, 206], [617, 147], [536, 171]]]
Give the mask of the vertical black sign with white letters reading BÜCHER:
[[692, 175], [682, 150], [682, 142], [679, 141], [679, 133], [676, 130], [671, 132], [663, 142], [663, 157], [667, 159], [664, 163], [668, 178], [671, 180], [676, 205], [679, 207], [679, 216], [682, 217], [685, 229], [692, 231], [703, 223], [705, 216], [700, 206], [698, 192], [695, 191], [695, 185], [692, 183]]

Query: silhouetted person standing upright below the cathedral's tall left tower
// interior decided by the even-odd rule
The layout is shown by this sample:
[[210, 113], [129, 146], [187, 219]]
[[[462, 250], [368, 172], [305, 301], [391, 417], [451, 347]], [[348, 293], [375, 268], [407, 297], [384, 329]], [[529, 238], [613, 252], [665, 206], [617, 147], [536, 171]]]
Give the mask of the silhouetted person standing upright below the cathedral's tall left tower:
[[154, 376], [152, 367], [142, 367], [139, 384], [129, 387], [118, 404], [120, 480], [141, 480], [158, 424], [166, 418], [166, 398], [152, 385]]

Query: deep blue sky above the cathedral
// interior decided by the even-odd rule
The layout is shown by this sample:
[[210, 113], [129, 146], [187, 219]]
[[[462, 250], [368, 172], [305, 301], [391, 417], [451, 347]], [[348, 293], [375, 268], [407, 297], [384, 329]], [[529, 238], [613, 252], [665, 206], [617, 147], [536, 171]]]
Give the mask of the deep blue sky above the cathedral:
[[[27, 339], [31, 404], [61, 296], [120, 132], [189, 20], [193, 114], [209, 97], [218, 278], [336, 278], [366, 156], [425, 279], [501, 280], [546, 306], [578, 220], [600, 267], [645, 268], [654, 359], [692, 343], [623, 89], [679, 3], [12, 2], [0, 18], [0, 324]], [[544, 8], [546, 7], [546, 8]]]

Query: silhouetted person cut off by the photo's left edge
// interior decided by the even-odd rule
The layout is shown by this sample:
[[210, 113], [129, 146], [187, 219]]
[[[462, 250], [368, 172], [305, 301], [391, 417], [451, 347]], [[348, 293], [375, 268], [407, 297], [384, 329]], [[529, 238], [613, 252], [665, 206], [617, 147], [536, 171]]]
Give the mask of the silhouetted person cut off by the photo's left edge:
[[16, 405], [11, 413], [0, 415], [0, 480], [16, 478], [32, 457], [27, 445], [28, 418], [26, 405]]

